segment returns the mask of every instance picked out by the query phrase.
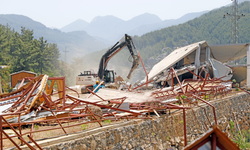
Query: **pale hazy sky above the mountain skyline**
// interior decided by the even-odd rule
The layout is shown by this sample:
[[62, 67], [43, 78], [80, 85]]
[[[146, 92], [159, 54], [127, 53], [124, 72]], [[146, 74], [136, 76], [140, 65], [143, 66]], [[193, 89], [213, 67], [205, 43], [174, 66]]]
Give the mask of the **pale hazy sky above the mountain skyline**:
[[20, 14], [47, 27], [62, 28], [82, 19], [113, 15], [129, 20], [144, 13], [162, 20], [177, 19], [190, 12], [212, 10], [231, 0], [0, 0], [0, 14]]

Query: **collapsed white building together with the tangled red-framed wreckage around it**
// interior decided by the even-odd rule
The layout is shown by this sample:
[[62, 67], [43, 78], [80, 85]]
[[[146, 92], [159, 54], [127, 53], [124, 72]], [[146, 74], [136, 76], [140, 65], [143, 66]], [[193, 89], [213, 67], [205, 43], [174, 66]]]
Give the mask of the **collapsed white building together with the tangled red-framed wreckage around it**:
[[[216, 48], [202, 41], [176, 49], [156, 64], [149, 74], [145, 72], [146, 79], [141, 85], [130, 85], [125, 91], [101, 89], [94, 93], [87, 89], [91, 94], [83, 96], [65, 85], [65, 77], [40, 75], [24, 78], [15, 92], [0, 95], [1, 149], [4, 140], [11, 141], [21, 149], [12, 140], [15, 137], [30, 149], [42, 149], [33, 139], [34, 133], [61, 129], [67, 135], [66, 128], [73, 126], [93, 122], [102, 126], [104, 120], [150, 119], [152, 115], [160, 117], [176, 109], [183, 113], [183, 135], [187, 145], [185, 111], [202, 107], [201, 103], [209, 105], [214, 117], [206, 117], [209, 124], [202, 127], [207, 130], [217, 124], [215, 108], [208, 100], [230, 93], [230, 79], [235, 73], [222, 62], [245, 56], [242, 49], [236, 55], [224, 56]], [[23, 85], [25, 80], [30, 82]], [[150, 83], [161, 88], [140, 90]], [[57, 91], [54, 91], [54, 87], [57, 87]], [[72, 93], [66, 94], [66, 90]], [[206, 114], [205, 109], [204, 112]], [[69, 122], [73, 124], [65, 124]], [[34, 125], [41, 123], [48, 124], [48, 128], [34, 130]], [[50, 123], [58, 126], [51, 127]], [[31, 125], [29, 132], [22, 132], [21, 127], [25, 125]], [[6, 127], [12, 129], [15, 135], [8, 135], [4, 130]], [[18, 127], [18, 131], [14, 127]], [[33, 145], [23, 138], [25, 135]]]

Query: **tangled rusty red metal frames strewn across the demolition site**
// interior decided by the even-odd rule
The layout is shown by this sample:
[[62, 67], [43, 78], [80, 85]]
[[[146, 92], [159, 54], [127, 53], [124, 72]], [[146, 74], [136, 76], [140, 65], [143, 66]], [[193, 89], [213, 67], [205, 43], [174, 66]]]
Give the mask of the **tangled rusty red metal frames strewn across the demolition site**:
[[[139, 58], [142, 62], [142, 59], [140, 57], [139, 52], [138, 52], [138, 55], [139, 55]], [[153, 82], [153, 80], [148, 81], [148, 74], [146, 72], [146, 69], [145, 69], [143, 62], [142, 62], [142, 65], [143, 65], [143, 68], [144, 68], [144, 71], [146, 74], [146, 83], [139, 85], [139, 86], [133, 88], [132, 90], [130, 90], [130, 88], [131, 88], [131, 86], [130, 86], [128, 91], [135, 91], [136, 89], [138, 89], [144, 85], [146, 85], [146, 87], [147, 87], [148, 83]], [[202, 68], [201, 72], [203, 72], [203, 71], [207, 72], [205, 70], [205, 68]], [[43, 131], [48, 131], [48, 130], [62, 129], [64, 134], [67, 134], [65, 128], [69, 128], [69, 127], [73, 127], [73, 126], [77, 126], [77, 125], [97, 122], [99, 124], [99, 126], [102, 126], [101, 121], [103, 121], [103, 120], [115, 120], [116, 121], [120, 118], [125, 118], [127, 120], [138, 119], [138, 118], [149, 119], [149, 118], [151, 118], [150, 117], [151, 112], [154, 112], [157, 116], [159, 116], [160, 112], [167, 112], [167, 110], [170, 110], [170, 109], [178, 109], [178, 110], [182, 109], [182, 111], [183, 111], [184, 139], [185, 139], [185, 145], [187, 145], [186, 109], [187, 110], [191, 109], [195, 120], [198, 122], [199, 126], [201, 127], [201, 125], [200, 125], [200, 123], [199, 123], [199, 121], [198, 121], [198, 119], [193, 111], [194, 107], [201, 107], [204, 110], [206, 120], [208, 120], [208, 123], [209, 123], [208, 125], [211, 126], [212, 122], [211, 122], [211, 120], [209, 120], [207, 113], [206, 113], [206, 110], [203, 108], [203, 106], [199, 105], [200, 103], [204, 103], [204, 104], [212, 107], [212, 110], [214, 113], [213, 120], [214, 120], [214, 123], [217, 124], [215, 107], [211, 103], [207, 102], [206, 100], [203, 100], [202, 96], [205, 95], [205, 98], [206, 98], [206, 95], [209, 95], [210, 93], [212, 93], [214, 96], [217, 96], [218, 94], [221, 94], [221, 96], [225, 96], [226, 93], [228, 92], [226, 90], [226, 87], [221, 84], [221, 82], [222, 82], [221, 78], [211, 79], [211, 77], [209, 76], [208, 73], [206, 74], [205, 78], [203, 78], [201, 76], [201, 72], [199, 75], [196, 75], [193, 72], [191, 72], [192, 74], [196, 75], [199, 78], [198, 80], [187, 79], [187, 80], [183, 80], [182, 82], [180, 82], [176, 71], [174, 70], [174, 68], [171, 68], [168, 75], [167, 75], [166, 81], [164, 82], [164, 85], [163, 85], [163, 87], [165, 87], [166, 82], [170, 78], [171, 87], [169, 87], [168, 89], [162, 88], [160, 90], [153, 91], [151, 94], [151, 97], [150, 97], [151, 101], [142, 102], [142, 103], [130, 103], [129, 104], [130, 110], [124, 110], [124, 109], [120, 108], [120, 106], [124, 103], [126, 97], [105, 100], [101, 96], [99, 96], [98, 94], [87, 89], [91, 93], [90, 95], [95, 95], [98, 98], [100, 98], [100, 101], [98, 101], [98, 102], [90, 102], [90, 101], [88, 101], [88, 99], [80, 99], [79, 98], [80, 96], [77, 93], [77, 91], [66, 87], [65, 77], [49, 77], [48, 80], [52, 80], [52, 82], [51, 82], [50, 88], [48, 88], [48, 85], [46, 85], [47, 86], [46, 88], [52, 92], [55, 81], [62, 80], [63, 81], [62, 90], [55, 92], [55, 93], [43, 92], [41, 94], [41, 96], [39, 97], [39, 99], [43, 99], [44, 103], [40, 104], [40, 106], [37, 109], [38, 109], [38, 111], [39, 110], [50, 111], [51, 114], [53, 115], [53, 117], [50, 119], [47, 118], [44, 120], [22, 122], [20, 120], [21, 113], [22, 114], [29, 113], [29, 111], [26, 110], [24, 106], [25, 106], [26, 102], [28, 101], [28, 99], [30, 97], [34, 96], [31, 93], [33, 93], [34, 89], [37, 88], [37, 85], [41, 80], [41, 79], [34, 80], [35, 78], [26, 78], [28, 80], [31, 80], [30, 82], [32, 84], [30, 84], [28, 87], [26, 87], [26, 89], [23, 89], [21, 91], [20, 95], [18, 95], [18, 96], [17, 95], [10, 95], [9, 97], [3, 97], [3, 99], [0, 99], [0, 101], [4, 101], [4, 100], [9, 100], [11, 98], [19, 97], [19, 99], [9, 109], [12, 111], [6, 111], [6, 114], [0, 115], [1, 120], [5, 120], [4, 119], [5, 116], [18, 116], [19, 117], [17, 123], [8, 123], [7, 120], [5, 120], [4, 123], [0, 122], [1, 149], [3, 149], [3, 139], [9, 139], [15, 146], [17, 146], [17, 148], [20, 149], [20, 147], [18, 147], [18, 145], [16, 145], [16, 143], [12, 140], [12, 138], [22, 137], [23, 135], [29, 135], [30, 141], [33, 142], [39, 149], [41, 149], [41, 147], [39, 147], [39, 145], [37, 145], [37, 143], [33, 139], [33, 137], [32, 137], [33, 133], [43, 132]], [[176, 78], [176, 80], [178, 81], [179, 87], [174, 86], [174, 78]], [[194, 84], [194, 85], [192, 85], [192, 84]], [[100, 85], [101, 85], [101, 83], [100, 83]], [[66, 95], [65, 94], [66, 88], [76, 92], [78, 95], [78, 98], [70, 96], [70, 95]], [[22, 89], [22, 87], [20, 89]], [[61, 98], [59, 97], [56, 100], [52, 100], [51, 96], [55, 95], [55, 94], [58, 94], [58, 95], [62, 94], [63, 96]], [[27, 95], [27, 97], [25, 99], [23, 99], [23, 97], [25, 95]], [[90, 97], [90, 95], [88, 97]], [[174, 98], [175, 100], [165, 101], [169, 98]], [[72, 103], [70, 103], [70, 104], [66, 103], [66, 99], [72, 101]], [[13, 111], [14, 108], [16, 108], [21, 103], [22, 103], [22, 106], [19, 107], [16, 111]], [[103, 115], [98, 115], [98, 114], [93, 113], [89, 109], [90, 105], [97, 106], [100, 108], [106, 108], [108, 110], [113, 110], [113, 112], [108, 111], [108, 112], [103, 112]], [[189, 107], [187, 107], [187, 106], [189, 106]], [[141, 112], [134, 112], [133, 110], [139, 110]], [[73, 111], [77, 111], [78, 114], [73, 114], [72, 113]], [[126, 114], [125, 115], [118, 115], [117, 111], [124, 112]], [[66, 113], [66, 114], [68, 114], [68, 117], [65, 117], [65, 116], [59, 117], [56, 115], [56, 112]], [[148, 116], [146, 116], [145, 112], [148, 113]], [[84, 117], [92, 117], [93, 120], [92, 121], [85, 121], [85, 122], [81, 122], [81, 123], [75, 123], [75, 124], [67, 125], [67, 126], [62, 125], [62, 123], [64, 123], [64, 122], [66, 122], [66, 123], [67, 122], [77, 122], [78, 119], [76, 119], [76, 118], [84, 118]], [[56, 122], [59, 126], [49, 128], [49, 129], [42, 129], [42, 130], [33, 130], [33, 127], [31, 127], [31, 130], [29, 132], [25, 132], [25, 133], [21, 132], [22, 125], [31, 124], [32, 126], [34, 126], [34, 124], [38, 124], [38, 123], [42, 123], [42, 122], [53, 122], [53, 123]], [[207, 126], [206, 122], [207, 121], [202, 122], [202, 123], [205, 125], [205, 128], [208, 130], [209, 127]], [[6, 133], [3, 131], [3, 128], [10, 127], [12, 129], [14, 126], [18, 126], [19, 133], [16, 134], [15, 136], [8, 136], [8, 135], [6, 136], [5, 135]], [[3, 134], [5, 135], [5, 137], [3, 137]], [[34, 147], [30, 146], [26, 141], [24, 141], [23, 138], [20, 138], [20, 140], [23, 144], [26, 144], [27, 146], [29, 146], [30, 149], [34, 149]]]

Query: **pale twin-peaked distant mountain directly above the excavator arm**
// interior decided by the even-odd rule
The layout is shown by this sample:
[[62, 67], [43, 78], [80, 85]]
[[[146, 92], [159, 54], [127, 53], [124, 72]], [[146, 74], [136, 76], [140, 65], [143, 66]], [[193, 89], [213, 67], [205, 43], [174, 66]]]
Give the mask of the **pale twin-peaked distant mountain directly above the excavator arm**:
[[114, 16], [95, 17], [85, 28], [94, 37], [105, 39], [108, 43], [115, 43], [125, 33], [145, 24], [159, 23], [161, 19], [153, 14], [145, 13], [124, 21]]

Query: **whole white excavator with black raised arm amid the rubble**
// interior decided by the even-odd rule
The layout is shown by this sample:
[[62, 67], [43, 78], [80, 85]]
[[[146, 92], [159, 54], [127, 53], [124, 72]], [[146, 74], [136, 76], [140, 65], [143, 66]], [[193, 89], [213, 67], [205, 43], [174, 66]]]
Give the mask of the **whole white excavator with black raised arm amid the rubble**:
[[120, 41], [118, 41], [102, 56], [97, 74], [94, 74], [91, 71], [84, 71], [84, 73], [81, 73], [76, 77], [77, 85], [86, 85], [81, 88], [82, 94], [88, 93], [86, 88], [93, 90], [93, 84], [95, 84], [98, 78], [99, 80], [104, 81], [104, 84], [115, 82], [115, 72], [114, 70], [107, 70], [107, 65], [109, 60], [125, 47], [128, 48], [133, 58], [132, 67], [127, 75], [127, 78], [130, 79], [132, 72], [138, 67], [140, 59], [139, 56], [135, 54], [136, 48], [131, 36], [125, 34], [125, 36]]

